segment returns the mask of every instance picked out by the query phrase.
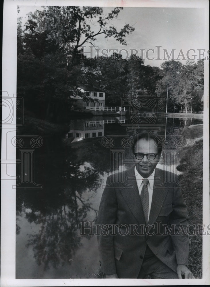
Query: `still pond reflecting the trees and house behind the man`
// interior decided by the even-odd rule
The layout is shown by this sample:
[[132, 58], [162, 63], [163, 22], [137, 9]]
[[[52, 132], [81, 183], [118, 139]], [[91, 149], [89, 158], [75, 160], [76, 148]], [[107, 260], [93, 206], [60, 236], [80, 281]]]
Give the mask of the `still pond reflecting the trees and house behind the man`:
[[[188, 129], [201, 119], [160, 119], [166, 153], [174, 152], [173, 164], [161, 156], [160, 168], [176, 172], [180, 160], [174, 139], [184, 138], [180, 148], [200, 135]], [[154, 126], [153, 126], [154, 127]], [[165, 129], [166, 128], [166, 129]], [[100, 270], [97, 236], [80, 235], [81, 222], [95, 221], [110, 172], [132, 165], [129, 147], [122, 147], [135, 129], [126, 117], [93, 117], [70, 121], [62, 137], [43, 137], [34, 152], [34, 180], [43, 189], [16, 190], [16, 279], [96, 278]], [[111, 137], [121, 158], [111, 162]], [[116, 149], [115, 149], [116, 152]], [[163, 153], [164, 154], [164, 153]], [[88, 223], [90, 225], [90, 223]]]

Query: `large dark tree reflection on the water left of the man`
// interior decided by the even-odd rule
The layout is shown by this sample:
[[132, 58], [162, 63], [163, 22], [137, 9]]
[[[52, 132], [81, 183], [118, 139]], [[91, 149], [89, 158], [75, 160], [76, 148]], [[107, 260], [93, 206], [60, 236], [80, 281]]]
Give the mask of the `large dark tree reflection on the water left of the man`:
[[[37, 156], [35, 168], [42, 160], [42, 172], [38, 170], [41, 191], [17, 190], [17, 218], [25, 216], [39, 228], [35, 234], [28, 234], [27, 247], [32, 246], [34, 258], [44, 270], [58, 267], [71, 259], [81, 245], [80, 220], [87, 213], [97, 210], [91, 206], [91, 199], [101, 186], [99, 171], [83, 159], [78, 159], [75, 149], [68, 147], [52, 150]], [[49, 149], [51, 152], [49, 152]], [[37, 173], [38, 173], [37, 172]], [[36, 174], [37, 175], [37, 174]], [[20, 226], [17, 221], [17, 234]], [[29, 233], [29, 232], [28, 232]]]

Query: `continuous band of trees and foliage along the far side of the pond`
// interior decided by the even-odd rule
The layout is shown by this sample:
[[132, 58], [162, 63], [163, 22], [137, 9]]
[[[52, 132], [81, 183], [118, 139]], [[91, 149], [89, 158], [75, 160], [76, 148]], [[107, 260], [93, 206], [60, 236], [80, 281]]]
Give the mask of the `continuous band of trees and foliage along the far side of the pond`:
[[[18, 8], [20, 9], [20, 8]], [[165, 61], [158, 67], [145, 66], [132, 55], [86, 58], [83, 47], [95, 46], [97, 36], [115, 38], [126, 45], [126, 35], [134, 28], [126, 24], [117, 30], [111, 20], [122, 8], [115, 7], [103, 15], [102, 7], [49, 6], [28, 13], [22, 25], [18, 18], [17, 91], [24, 98], [24, 107], [41, 119], [67, 121], [80, 85], [102, 89], [106, 105], [117, 106], [124, 93], [150, 90], [166, 96], [168, 110], [194, 112], [203, 110], [203, 60]], [[81, 94], [85, 101], [91, 98]]]

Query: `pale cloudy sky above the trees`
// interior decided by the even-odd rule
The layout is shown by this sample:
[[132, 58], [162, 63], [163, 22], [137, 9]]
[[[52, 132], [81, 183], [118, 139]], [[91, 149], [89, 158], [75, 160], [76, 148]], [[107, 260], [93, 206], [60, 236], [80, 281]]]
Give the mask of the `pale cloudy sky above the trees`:
[[[36, 7], [36, 9], [42, 9]], [[104, 15], [111, 11], [111, 7], [103, 7]], [[27, 20], [26, 14], [35, 11], [34, 6], [20, 6], [18, 16], [23, 17], [23, 22]], [[125, 24], [134, 26], [135, 31], [126, 36], [127, 46], [120, 44], [114, 38], [104, 39], [103, 35], [97, 36], [95, 44], [98, 46], [99, 55], [111, 55], [112, 51], [104, 49], [122, 50], [123, 58], [133, 53], [141, 56], [145, 65], [160, 67], [161, 63], [168, 60], [167, 53], [170, 55], [174, 49], [174, 58], [186, 63], [187, 57], [195, 61], [199, 58], [198, 49], [205, 49], [205, 11], [204, 8], [170, 8], [170, 7], [124, 7], [120, 11], [118, 18], [112, 20], [113, 25], [120, 30]], [[96, 29], [97, 19], [91, 26]], [[84, 48], [86, 56], [90, 56], [90, 44]], [[160, 46], [157, 48], [156, 46]], [[149, 50], [152, 49], [152, 50]], [[159, 52], [158, 52], [159, 49]], [[194, 51], [189, 51], [195, 49]], [[143, 52], [140, 50], [144, 50]], [[164, 52], [164, 50], [167, 51]], [[181, 50], [181, 52], [180, 52]], [[188, 54], [187, 54], [187, 51]], [[143, 53], [143, 54], [142, 54]], [[207, 56], [205, 52], [200, 52]], [[96, 51], [93, 50], [93, 56]], [[179, 57], [178, 57], [179, 56]], [[172, 59], [172, 55], [169, 59]]]

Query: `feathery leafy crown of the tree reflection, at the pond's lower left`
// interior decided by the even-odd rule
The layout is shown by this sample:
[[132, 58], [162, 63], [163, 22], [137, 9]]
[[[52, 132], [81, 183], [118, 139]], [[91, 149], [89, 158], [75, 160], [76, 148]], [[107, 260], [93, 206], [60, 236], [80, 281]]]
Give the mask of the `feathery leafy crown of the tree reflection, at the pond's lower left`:
[[30, 234], [27, 247], [33, 246], [34, 258], [38, 265], [44, 264], [44, 270], [51, 264], [54, 268], [73, 257], [80, 246], [81, 237], [77, 232], [72, 212], [63, 205], [52, 214], [37, 215], [37, 224], [41, 224], [38, 234]]

